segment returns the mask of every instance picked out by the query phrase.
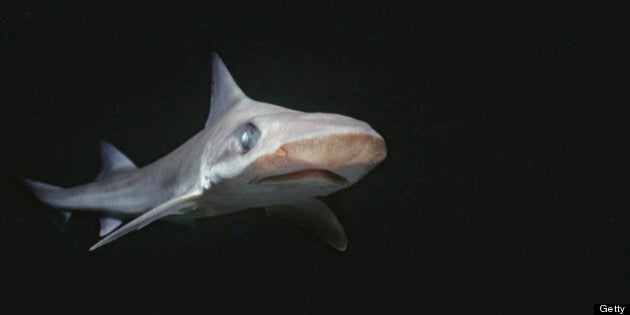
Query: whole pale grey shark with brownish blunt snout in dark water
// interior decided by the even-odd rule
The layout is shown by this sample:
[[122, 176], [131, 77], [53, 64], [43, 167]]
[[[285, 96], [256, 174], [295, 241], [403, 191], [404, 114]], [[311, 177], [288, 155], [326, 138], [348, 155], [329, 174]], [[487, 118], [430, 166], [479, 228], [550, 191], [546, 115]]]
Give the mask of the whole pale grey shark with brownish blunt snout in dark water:
[[62, 188], [23, 180], [66, 224], [79, 211], [98, 215], [102, 238], [90, 251], [157, 220], [192, 224], [249, 208], [264, 208], [346, 250], [343, 226], [317, 197], [355, 184], [383, 161], [383, 137], [348, 116], [253, 100], [221, 58], [211, 58], [205, 127], [174, 151], [137, 167], [102, 141], [102, 170], [92, 182]]

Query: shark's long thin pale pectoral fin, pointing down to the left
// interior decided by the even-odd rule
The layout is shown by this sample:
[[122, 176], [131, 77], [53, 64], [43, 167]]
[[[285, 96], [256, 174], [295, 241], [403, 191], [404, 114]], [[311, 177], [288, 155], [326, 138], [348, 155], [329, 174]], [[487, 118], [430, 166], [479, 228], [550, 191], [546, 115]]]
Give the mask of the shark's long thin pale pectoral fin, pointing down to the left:
[[94, 244], [94, 246], [90, 248], [90, 251], [93, 251], [112, 241], [115, 241], [129, 232], [139, 230], [155, 220], [159, 220], [169, 215], [186, 213], [187, 211], [192, 210], [197, 205], [197, 201], [200, 196], [200, 192], [194, 191], [173, 198], [145, 212], [143, 215], [133, 219], [131, 222], [123, 225], [118, 230], [115, 230], [111, 234], [107, 235], [96, 244]]

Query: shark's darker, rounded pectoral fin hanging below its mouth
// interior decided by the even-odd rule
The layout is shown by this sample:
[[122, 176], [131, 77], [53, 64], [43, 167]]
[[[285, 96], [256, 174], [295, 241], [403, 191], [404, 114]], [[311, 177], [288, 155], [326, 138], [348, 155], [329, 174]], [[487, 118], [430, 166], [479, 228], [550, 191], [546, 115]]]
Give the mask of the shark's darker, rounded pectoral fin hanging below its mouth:
[[348, 237], [335, 213], [322, 201], [308, 199], [265, 208], [268, 215], [289, 220], [317, 235], [339, 251], [346, 250]]

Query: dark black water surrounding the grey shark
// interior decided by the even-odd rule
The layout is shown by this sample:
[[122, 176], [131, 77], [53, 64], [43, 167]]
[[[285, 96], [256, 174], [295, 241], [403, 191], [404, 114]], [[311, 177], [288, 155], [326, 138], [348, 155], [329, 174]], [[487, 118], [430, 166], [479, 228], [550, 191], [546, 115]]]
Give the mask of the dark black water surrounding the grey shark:
[[[628, 30], [551, 1], [0, 5], [5, 314], [544, 314], [630, 303]], [[370, 123], [389, 156], [325, 200], [338, 253], [246, 211], [94, 253], [11, 176], [72, 186], [202, 128], [217, 51], [251, 97]], [[626, 109], [626, 110], [624, 110]], [[7, 176], [4, 176], [7, 175]], [[441, 313], [440, 313], [441, 314]]]

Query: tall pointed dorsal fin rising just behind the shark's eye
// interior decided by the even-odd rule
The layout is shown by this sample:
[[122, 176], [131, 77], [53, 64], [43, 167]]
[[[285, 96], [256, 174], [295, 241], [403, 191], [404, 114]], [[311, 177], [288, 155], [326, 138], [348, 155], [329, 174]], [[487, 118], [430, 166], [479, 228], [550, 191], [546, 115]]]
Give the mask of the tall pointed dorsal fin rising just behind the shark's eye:
[[212, 53], [212, 89], [210, 93], [212, 93], [210, 114], [206, 120], [206, 127], [226, 109], [246, 97], [223, 64], [221, 57], [216, 53]]

